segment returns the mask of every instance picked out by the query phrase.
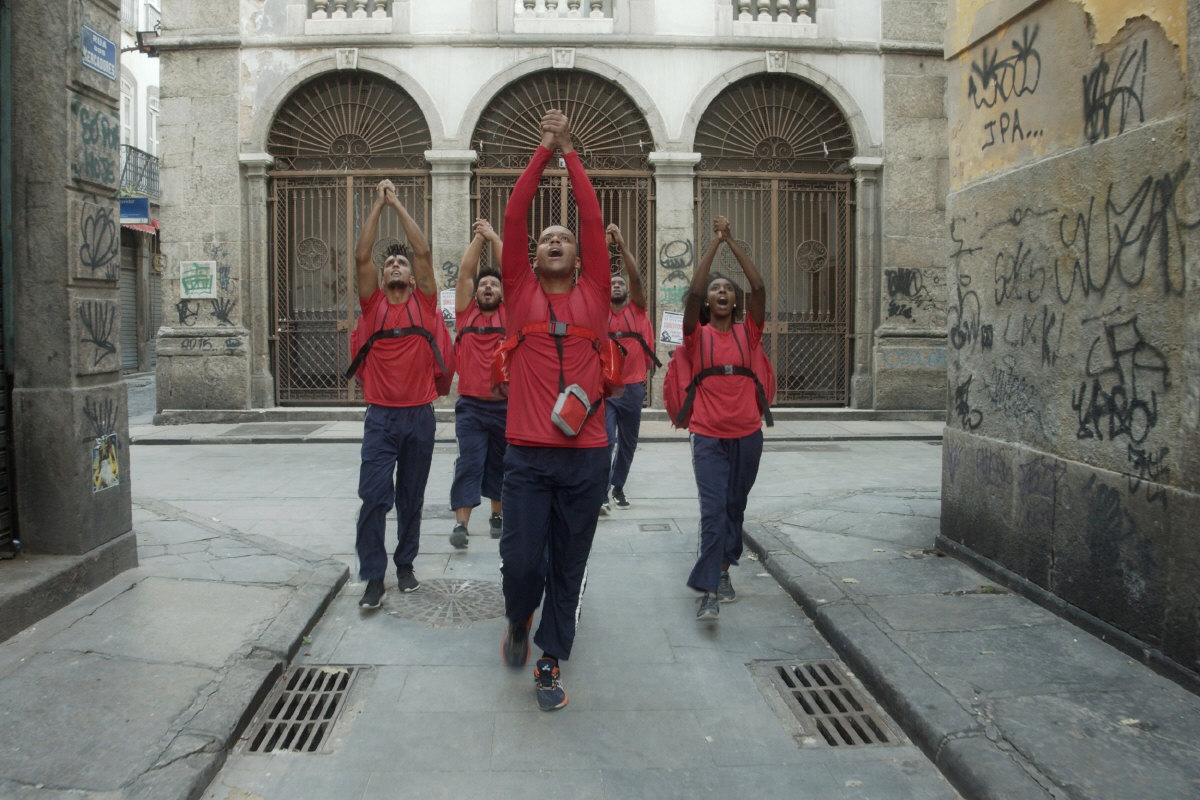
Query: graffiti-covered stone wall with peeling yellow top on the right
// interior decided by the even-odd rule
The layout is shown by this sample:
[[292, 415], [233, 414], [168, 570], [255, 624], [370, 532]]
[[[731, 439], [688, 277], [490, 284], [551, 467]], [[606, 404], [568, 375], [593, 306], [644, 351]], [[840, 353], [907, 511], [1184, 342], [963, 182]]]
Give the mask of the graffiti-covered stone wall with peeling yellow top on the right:
[[943, 545], [1200, 672], [1200, 6], [952, 6]]

